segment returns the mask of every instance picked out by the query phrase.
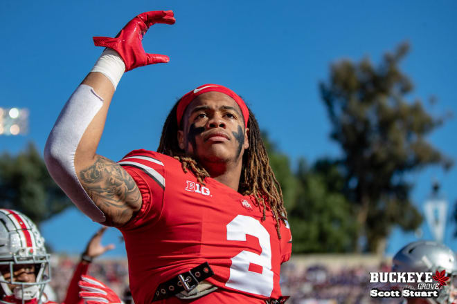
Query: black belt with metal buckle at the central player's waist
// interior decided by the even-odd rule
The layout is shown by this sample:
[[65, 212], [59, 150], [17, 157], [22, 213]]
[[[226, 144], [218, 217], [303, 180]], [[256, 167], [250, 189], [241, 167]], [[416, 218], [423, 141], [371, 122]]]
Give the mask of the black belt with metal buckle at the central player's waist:
[[174, 278], [159, 284], [154, 294], [152, 302], [170, 298], [179, 292], [190, 292], [197, 287], [198, 283], [206, 278], [213, 276], [214, 272], [208, 262], [205, 262], [197, 267], [190, 269], [188, 272], [182, 272]]

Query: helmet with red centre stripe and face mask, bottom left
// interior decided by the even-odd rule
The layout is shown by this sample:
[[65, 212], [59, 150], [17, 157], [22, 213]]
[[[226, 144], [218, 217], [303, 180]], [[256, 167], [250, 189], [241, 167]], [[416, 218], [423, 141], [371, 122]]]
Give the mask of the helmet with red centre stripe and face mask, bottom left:
[[[35, 283], [13, 281], [14, 266], [24, 264], [35, 265]], [[51, 281], [44, 238], [30, 218], [10, 209], [0, 209], [0, 267], [4, 269], [0, 285], [7, 296], [14, 295], [22, 303], [33, 298], [42, 301], [43, 289]], [[10, 274], [8, 280], [5, 272]], [[13, 290], [8, 284], [15, 285]]]

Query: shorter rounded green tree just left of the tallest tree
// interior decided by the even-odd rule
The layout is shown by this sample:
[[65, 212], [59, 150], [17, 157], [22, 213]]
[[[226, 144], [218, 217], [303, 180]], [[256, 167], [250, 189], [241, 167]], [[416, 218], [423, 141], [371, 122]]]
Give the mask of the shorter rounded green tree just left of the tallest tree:
[[357, 222], [342, 193], [343, 176], [330, 160], [318, 160], [307, 168], [304, 160], [296, 177], [299, 193], [289, 210], [294, 253], [348, 252], [355, 247]]

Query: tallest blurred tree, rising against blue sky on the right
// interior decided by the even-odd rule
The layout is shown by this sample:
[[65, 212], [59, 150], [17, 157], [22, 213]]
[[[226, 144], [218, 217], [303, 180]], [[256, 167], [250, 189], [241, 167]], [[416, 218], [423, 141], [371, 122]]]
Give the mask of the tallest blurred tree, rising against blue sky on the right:
[[331, 138], [343, 151], [346, 197], [357, 207], [357, 250], [382, 251], [393, 225], [412, 230], [422, 216], [412, 204], [412, 185], [405, 174], [452, 162], [425, 137], [445, 118], [433, 117], [413, 92], [400, 61], [409, 51], [401, 44], [386, 53], [379, 66], [369, 59], [332, 64], [330, 79], [321, 82], [321, 96], [332, 124]]

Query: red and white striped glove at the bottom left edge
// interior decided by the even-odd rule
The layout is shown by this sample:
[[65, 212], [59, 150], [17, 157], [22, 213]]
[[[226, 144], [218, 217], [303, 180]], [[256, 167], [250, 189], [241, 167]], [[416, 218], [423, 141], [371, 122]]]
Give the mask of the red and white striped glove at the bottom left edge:
[[78, 286], [82, 289], [80, 298], [87, 304], [120, 304], [118, 295], [105, 284], [91, 276], [81, 276]]

